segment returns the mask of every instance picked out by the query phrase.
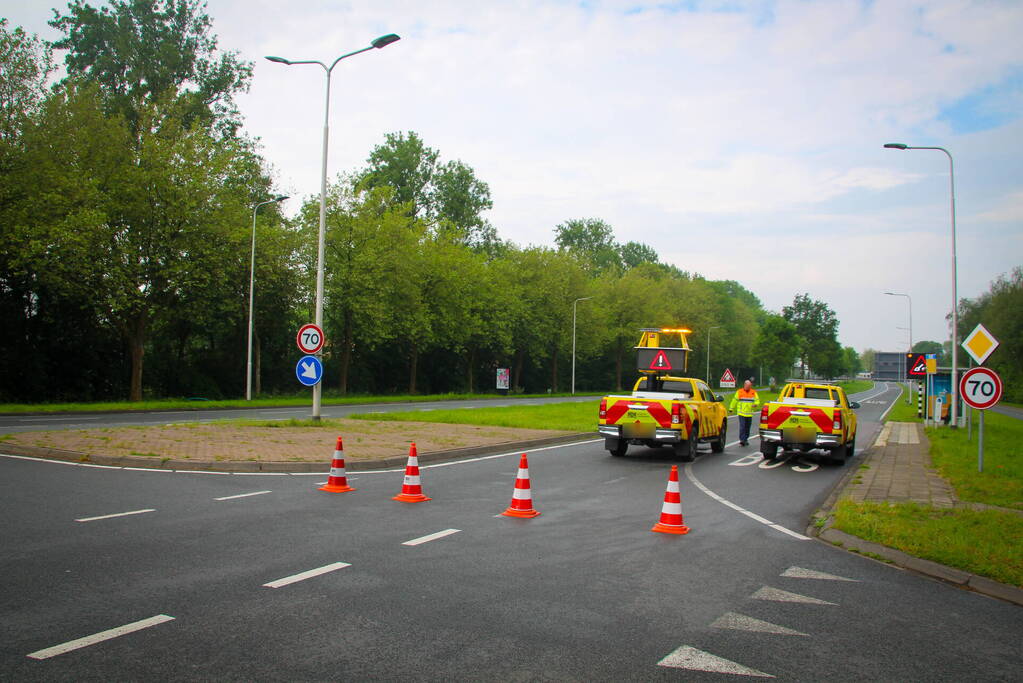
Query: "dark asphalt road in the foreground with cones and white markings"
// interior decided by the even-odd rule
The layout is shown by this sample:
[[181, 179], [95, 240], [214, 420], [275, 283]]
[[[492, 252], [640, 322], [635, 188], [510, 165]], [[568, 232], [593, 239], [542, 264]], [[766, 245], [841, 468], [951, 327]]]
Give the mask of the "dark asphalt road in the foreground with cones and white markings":
[[856, 459], [756, 444], [680, 467], [686, 536], [650, 531], [667, 454], [595, 440], [530, 452], [533, 519], [499, 515], [518, 453], [422, 467], [418, 504], [400, 469], [0, 457], [0, 680], [1019, 680], [1023, 610], [802, 537]]

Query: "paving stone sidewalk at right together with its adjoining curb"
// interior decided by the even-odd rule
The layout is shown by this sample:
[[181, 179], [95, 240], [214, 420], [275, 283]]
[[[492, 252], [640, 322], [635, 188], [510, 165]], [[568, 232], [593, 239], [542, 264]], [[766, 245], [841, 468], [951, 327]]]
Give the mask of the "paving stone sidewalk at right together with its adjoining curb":
[[[913, 557], [900, 550], [831, 528], [831, 508], [840, 499], [856, 502], [914, 501], [934, 507], [992, 507], [958, 500], [951, 486], [931, 466], [929, 451], [930, 442], [921, 423], [886, 422], [874, 446], [863, 451], [862, 462], [859, 465], [851, 463], [854, 469], [825, 504], [822, 514], [828, 521], [824, 529], [811, 525], [807, 531], [848, 550], [880, 556], [898, 566], [1023, 606], [1023, 589]], [[1008, 511], [1023, 514], [1020, 510]]]

